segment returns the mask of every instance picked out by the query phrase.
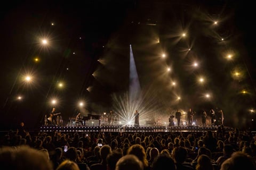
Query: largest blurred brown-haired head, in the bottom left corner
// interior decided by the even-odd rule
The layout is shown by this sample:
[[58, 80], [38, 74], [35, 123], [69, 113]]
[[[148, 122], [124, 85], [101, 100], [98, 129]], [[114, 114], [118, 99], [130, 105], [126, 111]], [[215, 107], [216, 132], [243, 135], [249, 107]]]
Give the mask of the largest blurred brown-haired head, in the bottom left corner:
[[52, 164], [45, 153], [28, 146], [1, 147], [0, 148], [1, 169], [15, 170], [52, 170]]

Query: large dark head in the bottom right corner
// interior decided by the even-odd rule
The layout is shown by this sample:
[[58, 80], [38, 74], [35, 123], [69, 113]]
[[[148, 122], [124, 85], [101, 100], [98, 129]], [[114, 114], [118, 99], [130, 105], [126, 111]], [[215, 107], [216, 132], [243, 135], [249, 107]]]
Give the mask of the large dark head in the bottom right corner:
[[251, 156], [243, 154], [241, 151], [234, 152], [230, 158], [225, 160], [220, 170], [255, 170], [256, 165]]

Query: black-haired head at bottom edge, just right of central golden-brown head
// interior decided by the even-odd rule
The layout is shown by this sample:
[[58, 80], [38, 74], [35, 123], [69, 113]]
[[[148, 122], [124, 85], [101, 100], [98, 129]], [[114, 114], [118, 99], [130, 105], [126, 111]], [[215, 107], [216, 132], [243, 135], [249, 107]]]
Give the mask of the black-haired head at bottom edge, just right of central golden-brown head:
[[151, 170], [175, 170], [176, 166], [170, 154], [159, 154], [154, 160]]

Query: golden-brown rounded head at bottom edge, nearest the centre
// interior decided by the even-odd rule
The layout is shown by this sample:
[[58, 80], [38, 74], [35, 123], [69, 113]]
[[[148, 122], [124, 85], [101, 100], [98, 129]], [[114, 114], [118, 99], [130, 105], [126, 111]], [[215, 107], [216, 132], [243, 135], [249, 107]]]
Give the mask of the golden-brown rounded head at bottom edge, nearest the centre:
[[115, 170], [143, 170], [143, 163], [135, 155], [125, 155], [116, 163]]

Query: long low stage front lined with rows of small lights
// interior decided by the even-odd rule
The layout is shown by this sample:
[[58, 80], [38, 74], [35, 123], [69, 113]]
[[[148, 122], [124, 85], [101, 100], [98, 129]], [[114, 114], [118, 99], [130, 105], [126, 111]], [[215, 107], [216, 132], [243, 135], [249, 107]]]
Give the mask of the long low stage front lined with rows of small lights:
[[[86, 125], [86, 126], [56, 126], [43, 125], [39, 128], [40, 132], [205, 132], [217, 131], [218, 126], [139, 126], [134, 127], [130, 125]], [[233, 128], [225, 127], [225, 130], [233, 131]]]

